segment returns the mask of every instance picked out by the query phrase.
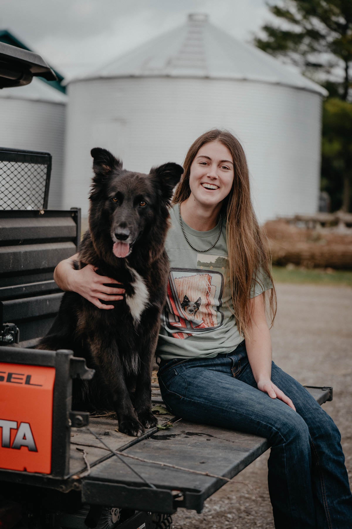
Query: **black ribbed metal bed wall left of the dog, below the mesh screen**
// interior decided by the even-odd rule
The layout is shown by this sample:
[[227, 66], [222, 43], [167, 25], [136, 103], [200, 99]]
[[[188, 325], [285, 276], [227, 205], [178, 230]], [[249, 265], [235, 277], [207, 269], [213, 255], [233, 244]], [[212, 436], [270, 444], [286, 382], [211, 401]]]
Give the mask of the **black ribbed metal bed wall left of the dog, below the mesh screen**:
[[[30, 222], [37, 219], [37, 227], [28, 227], [27, 219]], [[68, 220], [68, 226], [61, 231], [58, 226], [61, 221], [66, 222], [64, 219]], [[0, 346], [5, 345], [8, 335], [5, 332], [7, 327], [1, 331], [2, 324], [12, 323], [20, 329], [20, 344], [24, 347], [35, 345], [36, 339], [49, 330], [63, 295], [53, 280], [54, 266], [77, 251], [80, 238], [80, 208], [68, 211], [0, 209], [0, 247], [6, 247], [0, 263]], [[73, 243], [70, 244], [72, 249], [60, 250], [62, 242]], [[40, 252], [46, 243], [53, 243], [51, 251], [56, 253], [55, 259], [51, 258], [50, 263], [46, 263], [48, 268], [43, 269]], [[32, 255], [31, 258], [26, 258], [23, 252], [18, 251], [22, 246], [25, 254], [33, 252], [33, 255], [28, 253]], [[36, 252], [40, 259], [35, 257]], [[49, 253], [47, 256], [49, 259]], [[47, 305], [44, 304], [45, 300]], [[12, 343], [15, 342], [14, 338]]]

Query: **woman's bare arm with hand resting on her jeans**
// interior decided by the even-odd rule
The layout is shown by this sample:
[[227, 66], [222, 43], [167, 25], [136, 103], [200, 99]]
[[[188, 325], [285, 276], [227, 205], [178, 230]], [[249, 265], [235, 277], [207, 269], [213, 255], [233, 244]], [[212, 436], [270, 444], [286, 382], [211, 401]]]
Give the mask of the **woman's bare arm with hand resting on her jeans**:
[[249, 300], [251, 318], [245, 338], [249, 363], [258, 389], [271, 398], [279, 398], [296, 411], [292, 400], [271, 381], [271, 338], [265, 317], [263, 294]]

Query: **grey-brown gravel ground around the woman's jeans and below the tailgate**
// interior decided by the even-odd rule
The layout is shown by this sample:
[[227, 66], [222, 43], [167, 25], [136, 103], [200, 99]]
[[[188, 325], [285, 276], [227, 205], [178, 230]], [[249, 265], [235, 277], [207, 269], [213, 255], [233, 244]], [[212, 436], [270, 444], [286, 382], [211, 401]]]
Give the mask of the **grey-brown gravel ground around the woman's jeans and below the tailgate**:
[[[334, 387], [323, 406], [341, 432], [352, 484], [352, 289], [279, 284], [277, 293], [273, 360], [301, 384]], [[272, 529], [268, 457], [269, 451], [218, 490], [202, 514], [178, 509], [174, 529]]]

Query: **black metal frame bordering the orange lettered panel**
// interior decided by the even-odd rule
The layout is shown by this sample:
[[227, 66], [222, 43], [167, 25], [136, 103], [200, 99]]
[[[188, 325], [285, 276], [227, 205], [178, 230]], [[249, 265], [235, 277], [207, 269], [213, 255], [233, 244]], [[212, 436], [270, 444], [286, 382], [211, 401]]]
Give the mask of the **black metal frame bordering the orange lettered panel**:
[[[26, 364], [27, 366], [45, 366], [55, 368], [53, 395], [53, 422], [50, 475], [37, 472], [22, 472], [0, 469], [0, 479], [15, 476], [15, 480], [31, 484], [35, 478], [67, 478], [70, 474], [70, 433], [71, 433], [71, 402], [72, 378], [78, 374], [81, 378], [92, 378], [94, 370], [88, 369], [83, 358], [73, 357], [73, 351], [42, 351], [39, 349], [20, 349], [4, 346], [0, 348], [0, 362]], [[86, 415], [82, 412], [80, 415]], [[32, 479], [34, 477], [34, 480]], [[13, 477], [10, 477], [13, 481]]]

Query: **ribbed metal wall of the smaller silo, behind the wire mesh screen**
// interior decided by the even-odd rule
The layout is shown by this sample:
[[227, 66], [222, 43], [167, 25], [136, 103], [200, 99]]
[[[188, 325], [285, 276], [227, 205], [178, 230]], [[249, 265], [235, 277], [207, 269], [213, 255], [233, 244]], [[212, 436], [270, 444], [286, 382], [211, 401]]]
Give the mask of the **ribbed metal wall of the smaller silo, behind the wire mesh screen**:
[[4, 97], [0, 98], [0, 116], [1, 147], [50, 152], [48, 207], [62, 208], [65, 105]]

